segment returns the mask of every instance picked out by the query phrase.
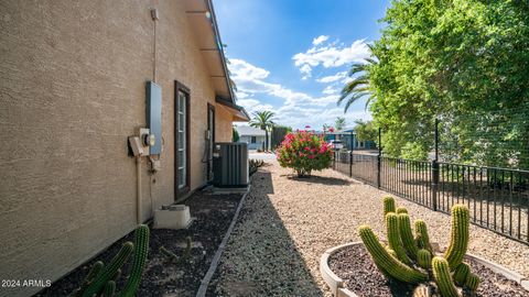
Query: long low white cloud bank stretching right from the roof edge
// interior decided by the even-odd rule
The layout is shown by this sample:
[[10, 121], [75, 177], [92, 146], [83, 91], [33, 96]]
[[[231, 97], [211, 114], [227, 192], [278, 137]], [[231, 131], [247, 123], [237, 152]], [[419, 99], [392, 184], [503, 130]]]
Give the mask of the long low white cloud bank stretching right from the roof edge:
[[[237, 103], [245, 107], [249, 113], [271, 110], [277, 114], [277, 121], [294, 129], [306, 124], [320, 129], [323, 123], [332, 123], [336, 117], [344, 117], [344, 109], [336, 107], [337, 90], [332, 86], [324, 89], [323, 96], [314, 97], [295, 91], [280, 84], [267, 81], [270, 72], [251, 65], [242, 59], [230, 59], [229, 70], [237, 85]], [[272, 96], [282, 99], [279, 106], [266, 103], [258, 98]], [[355, 119], [369, 119], [364, 111], [349, 111], [345, 117], [353, 123]]]

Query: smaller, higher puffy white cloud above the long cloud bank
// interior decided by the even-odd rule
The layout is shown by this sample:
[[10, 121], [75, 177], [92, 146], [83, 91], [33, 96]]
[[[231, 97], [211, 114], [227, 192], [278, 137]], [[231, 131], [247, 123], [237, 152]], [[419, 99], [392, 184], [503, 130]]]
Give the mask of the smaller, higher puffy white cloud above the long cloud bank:
[[339, 67], [353, 62], [364, 62], [370, 56], [369, 47], [365, 40], [357, 40], [350, 46], [327, 44], [320, 46], [315, 44], [305, 53], [295, 54], [292, 59], [300, 68], [303, 77], [310, 77], [312, 68], [323, 66], [325, 68]]

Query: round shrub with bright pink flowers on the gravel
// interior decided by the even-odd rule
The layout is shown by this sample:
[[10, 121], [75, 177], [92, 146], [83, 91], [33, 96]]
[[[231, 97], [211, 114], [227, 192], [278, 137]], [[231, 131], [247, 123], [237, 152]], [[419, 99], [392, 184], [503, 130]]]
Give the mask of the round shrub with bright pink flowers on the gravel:
[[332, 163], [328, 143], [305, 130], [287, 134], [276, 155], [282, 167], [294, 169], [300, 177], [328, 168]]

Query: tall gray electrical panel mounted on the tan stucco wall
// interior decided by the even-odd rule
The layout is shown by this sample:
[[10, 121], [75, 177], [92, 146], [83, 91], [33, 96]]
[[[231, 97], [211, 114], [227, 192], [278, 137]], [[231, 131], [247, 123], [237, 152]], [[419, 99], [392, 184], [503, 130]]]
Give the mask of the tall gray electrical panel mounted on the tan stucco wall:
[[162, 153], [162, 88], [153, 81], [147, 81], [147, 122], [150, 134], [154, 135], [151, 143], [151, 155]]

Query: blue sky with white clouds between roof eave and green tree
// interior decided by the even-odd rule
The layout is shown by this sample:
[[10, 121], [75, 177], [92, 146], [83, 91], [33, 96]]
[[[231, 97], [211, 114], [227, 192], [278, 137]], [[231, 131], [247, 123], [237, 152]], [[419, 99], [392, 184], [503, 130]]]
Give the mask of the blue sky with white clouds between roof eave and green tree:
[[321, 129], [336, 117], [370, 119], [365, 101], [336, 100], [354, 62], [369, 55], [389, 0], [214, 0], [238, 103], [276, 122]]

